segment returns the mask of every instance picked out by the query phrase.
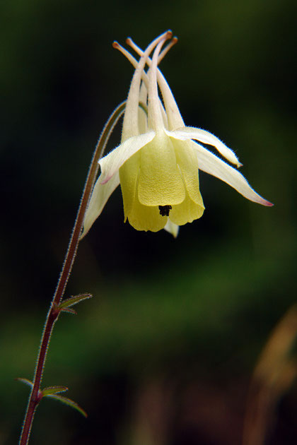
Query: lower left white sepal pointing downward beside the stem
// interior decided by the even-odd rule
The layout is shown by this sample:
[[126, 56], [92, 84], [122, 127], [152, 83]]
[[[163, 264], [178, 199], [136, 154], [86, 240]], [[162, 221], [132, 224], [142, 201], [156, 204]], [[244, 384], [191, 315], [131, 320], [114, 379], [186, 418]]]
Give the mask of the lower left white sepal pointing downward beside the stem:
[[91, 225], [93, 225], [94, 221], [102, 212], [108, 198], [119, 184], [120, 177], [118, 173], [114, 174], [107, 184], [100, 184], [100, 177], [97, 179], [83, 221], [83, 232], [81, 234], [81, 239], [88, 233]]

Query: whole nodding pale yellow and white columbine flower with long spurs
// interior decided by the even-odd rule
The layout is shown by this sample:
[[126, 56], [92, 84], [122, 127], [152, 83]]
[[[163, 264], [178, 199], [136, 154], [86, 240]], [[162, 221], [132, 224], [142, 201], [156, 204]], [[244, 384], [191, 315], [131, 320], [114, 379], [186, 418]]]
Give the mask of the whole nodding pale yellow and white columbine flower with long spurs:
[[[240, 167], [235, 153], [219, 138], [208, 131], [187, 127], [182, 121], [168, 83], [158, 69], [158, 62], [168, 50], [160, 54], [161, 48], [171, 37], [170, 31], [165, 32], [145, 52], [131, 39], [127, 40], [141, 56], [138, 63], [124, 48], [114, 44], [136, 69], [127, 98], [122, 141], [99, 161], [101, 174], [86, 212], [83, 235], [120, 184], [125, 221], [128, 219], [136, 230], [157, 232], [165, 228], [176, 236], [178, 226], [192, 223], [204, 212], [199, 169], [226, 182], [250, 201], [272, 206], [250, 187], [238, 170], [193, 141], [214, 146], [228, 162]], [[164, 105], [158, 97], [158, 85]], [[140, 102], [148, 105], [147, 116], [139, 108]]]

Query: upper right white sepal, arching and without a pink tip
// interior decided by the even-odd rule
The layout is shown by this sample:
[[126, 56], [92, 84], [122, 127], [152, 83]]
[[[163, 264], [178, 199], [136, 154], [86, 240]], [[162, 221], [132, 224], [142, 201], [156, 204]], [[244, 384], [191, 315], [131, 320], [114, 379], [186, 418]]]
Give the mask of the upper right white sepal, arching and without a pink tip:
[[219, 138], [214, 136], [214, 134], [209, 133], [209, 131], [196, 129], [193, 126], [184, 126], [183, 128], [176, 129], [174, 131], [167, 131], [166, 133], [168, 136], [180, 139], [181, 141], [196, 139], [202, 143], [214, 146], [216, 147], [216, 150], [218, 150], [219, 153], [226, 158], [226, 160], [232, 164], [235, 164], [237, 167], [241, 167], [242, 165], [231, 148], [228, 148], [222, 141], [219, 140]]

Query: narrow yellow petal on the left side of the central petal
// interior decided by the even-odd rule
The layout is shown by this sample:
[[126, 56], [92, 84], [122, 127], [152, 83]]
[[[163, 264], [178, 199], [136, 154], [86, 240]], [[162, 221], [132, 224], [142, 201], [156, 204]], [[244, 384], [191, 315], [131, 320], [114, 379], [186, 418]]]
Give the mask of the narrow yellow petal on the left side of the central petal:
[[120, 184], [124, 202], [124, 220], [132, 211], [136, 196], [136, 183], [140, 167], [140, 152], [129, 158], [119, 170]]

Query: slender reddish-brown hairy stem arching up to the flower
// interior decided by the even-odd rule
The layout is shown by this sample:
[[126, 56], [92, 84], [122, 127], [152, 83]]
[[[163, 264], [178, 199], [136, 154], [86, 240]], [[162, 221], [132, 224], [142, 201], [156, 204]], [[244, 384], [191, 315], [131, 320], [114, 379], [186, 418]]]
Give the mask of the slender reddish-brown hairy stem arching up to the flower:
[[91, 160], [91, 165], [88, 170], [88, 176], [86, 178], [86, 184], [83, 189], [83, 195], [81, 197], [81, 203], [78, 207], [78, 213], [76, 216], [76, 221], [74, 223], [74, 229], [71, 234], [70, 242], [68, 249], [66, 251], [66, 256], [64, 259], [64, 264], [62, 267], [61, 275], [59, 276], [59, 281], [57, 284], [56, 291], [54, 292], [54, 296], [52, 298], [52, 302], [50, 304], [50, 310], [47, 314], [47, 319], [45, 321], [45, 328], [42, 333], [42, 338], [40, 341], [40, 349], [37, 356], [37, 364], [35, 367], [35, 374], [33, 379], [33, 388], [30, 394], [28, 407], [25, 413], [25, 419], [23, 422], [23, 429], [21, 432], [20, 445], [27, 445], [30, 437], [30, 430], [33, 423], [33, 417], [35, 414], [35, 410], [37, 408], [38, 403], [42, 398], [40, 391], [40, 384], [42, 381], [42, 373], [45, 368], [45, 360], [47, 358], [47, 350], [50, 344], [50, 337], [52, 335], [52, 331], [54, 328], [54, 324], [59, 316], [59, 303], [62, 300], [64, 295], [66, 284], [69, 280], [69, 275], [71, 273], [72, 266], [74, 264], [74, 259], [76, 257], [76, 251], [78, 249], [79, 237], [81, 235], [81, 230], [83, 228], [83, 218], [86, 213], [86, 208], [88, 206], [88, 201], [90, 200], [91, 192], [93, 190], [93, 186], [95, 183], [96, 176], [98, 174], [98, 160], [102, 158], [105, 146], [110, 137], [112, 130], [117, 124], [117, 121], [120, 119], [122, 114], [124, 113], [124, 108], [126, 106], [126, 102], [122, 102], [108, 119], [103, 132], [98, 140], [98, 143], [95, 147], [95, 151], [93, 154], [93, 158]]

